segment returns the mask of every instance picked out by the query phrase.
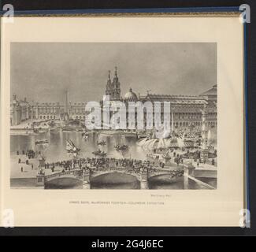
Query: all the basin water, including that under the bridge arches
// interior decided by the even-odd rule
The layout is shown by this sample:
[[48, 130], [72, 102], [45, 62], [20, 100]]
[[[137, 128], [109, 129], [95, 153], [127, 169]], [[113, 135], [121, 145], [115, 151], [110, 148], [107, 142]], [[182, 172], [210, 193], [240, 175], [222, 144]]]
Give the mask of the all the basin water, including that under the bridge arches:
[[[48, 139], [49, 144], [35, 145], [37, 139]], [[72, 158], [72, 154], [68, 154], [65, 150], [65, 139], [71, 139], [75, 145], [80, 148], [78, 158], [92, 158], [95, 150], [102, 150], [107, 153], [109, 158], [135, 158], [146, 159], [146, 154], [137, 146], [135, 137], [122, 136], [118, 134], [104, 135], [92, 133], [87, 140], [82, 138], [81, 132], [47, 132], [39, 135], [11, 135], [10, 151], [11, 155], [16, 155], [17, 150], [35, 150], [40, 151], [46, 157], [46, 162], [63, 161]], [[105, 146], [98, 146], [98, 142], [106, 141]], [[117, 152], [115, 146], [117, 144], [126, 144], [129, 146], [127, 152]], [[213, 187], [217, 186], [216, 179], [204, 179], [205, 183], [209, 183]], [[168, 175], [154, 176], [148, 181], [149, 189], [184, 189], [184, 177], [176, 180], [169, 180]], [[52, 180], [46, 184], [46, 189], [57, 188], [82, 188], [83, 185], [79, 180], [68, 178], [60, 178]], [[139, 189], [140, 183], [135, 176], [120, 173], [108, 173], [97, 176], [91, 180], [92, 189]], [[205, 189], [204, 186], [198, 185], [193, 180], [188, 180], [189, 189]]]

